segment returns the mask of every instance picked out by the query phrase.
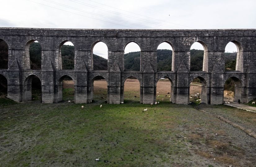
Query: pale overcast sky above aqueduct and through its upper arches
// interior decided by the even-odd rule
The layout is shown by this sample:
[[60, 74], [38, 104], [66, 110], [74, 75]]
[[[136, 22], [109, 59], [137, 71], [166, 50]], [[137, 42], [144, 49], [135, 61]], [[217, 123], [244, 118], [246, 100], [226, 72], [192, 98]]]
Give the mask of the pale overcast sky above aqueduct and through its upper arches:
[[[0, 4], [0, 27], [256, 28], [254, 0], [2, 0]], [[103, 54], [102, 56], [105, 53], [106, 56], [103, 45], [98, 45], [94, 48], [94, 53]], [[200, 48], [200, 45], [195, 45], [193, 48], [202, 49], [202, 46]], [[125, 51], [136, 51], [135, 49], [131, 47]], [[236, 47], [227, 46], [226, 51], [236, 51]]]

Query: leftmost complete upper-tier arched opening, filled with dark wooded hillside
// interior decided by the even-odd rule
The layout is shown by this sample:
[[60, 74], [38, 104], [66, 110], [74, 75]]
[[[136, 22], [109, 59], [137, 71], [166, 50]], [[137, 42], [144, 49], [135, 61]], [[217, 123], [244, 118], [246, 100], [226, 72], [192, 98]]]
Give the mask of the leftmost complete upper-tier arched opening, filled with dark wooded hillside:
[[[35, 46], [35, 48], [32, 48], [32, 49], [35, 49], [35, 53], [32, 52], [30, 53], [30, 46], [32, 43], [34, 43], [35, 41], [37, 41], [36, 43], [38, 44], [35, 44], [35, 45], [38, 45], [38, 46]], [[38, 59], [36, 56], [37, 56], [37, 53], [36, 53], [36, 49], [39, 48], [39, 58], [40, 58], [40, 61], [36, 60]], [[32, 69], [32, 70], [40, 70], [42, 69], [42, 45], [41, 43], [36, 40], [36, 39], [31, 39], [29, 41], [26, 42], [25, 44], [25, 63], [26, 63], [26, 68], [27, 69]], [[32, 63], [32, 64], [31, 64]]]

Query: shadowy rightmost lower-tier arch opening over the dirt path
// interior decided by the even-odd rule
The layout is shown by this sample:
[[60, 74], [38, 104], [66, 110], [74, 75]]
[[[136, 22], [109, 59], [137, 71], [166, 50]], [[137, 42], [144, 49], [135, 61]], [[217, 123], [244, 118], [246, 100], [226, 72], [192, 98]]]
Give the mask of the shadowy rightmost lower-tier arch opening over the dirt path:
[[[230, 82], [231, 84], [226, 84], [227, 82]], [[232, 84], [233, 82], [233, 84]], [[242, 82], [239, 78], [235, 77], [235, 76], [231, 76], [229, 77], [223, 85], [223, 101], [238, 101], [238, 99], [240, 99], [241, 102], [243, 102], [242, 99], [242, 94], [243, 94], [243, 88], [242, 88]], [[232, 88], [231, 88], [232, 87]], [[228, 94], [224, 94], [225, 90], [230, 90], [230, 91], [234, 91], [234, 99], [230, 100], [229, 98], [227, 98], [226, 95]], [[226, 96], [226, 98], [224, 98]]]

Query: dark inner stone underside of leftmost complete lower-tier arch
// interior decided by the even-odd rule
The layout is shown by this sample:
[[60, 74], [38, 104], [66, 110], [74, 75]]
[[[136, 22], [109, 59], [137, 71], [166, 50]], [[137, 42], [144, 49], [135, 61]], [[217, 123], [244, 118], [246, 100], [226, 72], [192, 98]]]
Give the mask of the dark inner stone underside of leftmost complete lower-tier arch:
[[[35, 74], [29, 74], [23, 84], [23, 99], [24, 101], [32, 100], [32, 80], [33, 77], [37, 77], [40, 80], [40, 86], [42, 85], [42, 79]], [[42, 101], [42, 86], [41, 86], [41, 101]]]

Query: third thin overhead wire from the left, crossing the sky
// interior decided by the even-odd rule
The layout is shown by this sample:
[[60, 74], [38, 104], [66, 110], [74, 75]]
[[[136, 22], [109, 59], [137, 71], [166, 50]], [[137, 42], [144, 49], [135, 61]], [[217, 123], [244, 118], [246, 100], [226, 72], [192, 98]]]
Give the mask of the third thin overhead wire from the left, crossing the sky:
[[166, 27], [169, 27], [169, 28], [180, 28], [180, 27], [176, 27], [176, 26], [170, 27], [167, 24], [162, 24], [162, 23], [158, 23], [158, 22], [155, 22], [155, 21], [147, 20], [147, 19], [141, 19], [141, 18], [138, 18], [138, 17], [134, 17], [132, 15], [122, 14], [122, 13], [119, 13], [119, 12], [116, 12], [116, 11], [111, 11], [111, 10], [108, 10], [108, 9], [105, 9], [105, 8], [101, 8], [101, 7], [98, 7], [98, 6], [90, 5], [88, 3], [84, 3], [84, 2], [81, 2], [81, 1], [77, 1], [77, 0], [69, 0], [69, 1], [81, 4], [81, 5], [84, 5], [84, 6], [89, 6], [89, 7], [92, 7], [94, 9], [99, 9], [101, 11], [106, 11], [106, 12], [109, 12], [109, 13], [113, 13], [113, 14], [116, 14], [116, 15], [121, 15], [121, 16], [128, 17], [128, 18], [131, 18], [131, 19], [135, 19], [135, 20], [139, 20], [139, 21], [144, 21], [144, 22], [147, 22], [147, 23], [150, 23], [150, 24], [158, 24], [160, 26], [166, 26]]

